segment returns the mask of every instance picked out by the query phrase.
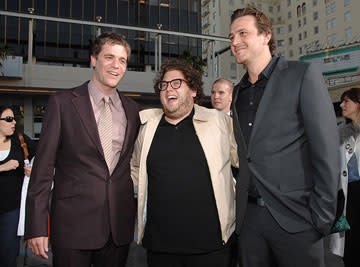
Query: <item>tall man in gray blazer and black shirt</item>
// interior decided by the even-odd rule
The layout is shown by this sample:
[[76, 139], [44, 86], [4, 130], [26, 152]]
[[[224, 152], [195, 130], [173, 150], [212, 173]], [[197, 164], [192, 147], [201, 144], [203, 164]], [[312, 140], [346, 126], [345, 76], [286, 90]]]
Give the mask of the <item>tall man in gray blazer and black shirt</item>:
[[339, 138], [323, 77], [311, 64], [272, 56], [271, 21], [255, 8], [233, 13], [229, 39], [247, 68], [231, 107], [239, 259], [244, 267], [324, 266]]

